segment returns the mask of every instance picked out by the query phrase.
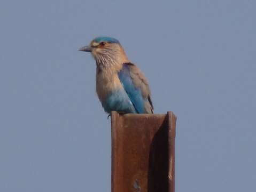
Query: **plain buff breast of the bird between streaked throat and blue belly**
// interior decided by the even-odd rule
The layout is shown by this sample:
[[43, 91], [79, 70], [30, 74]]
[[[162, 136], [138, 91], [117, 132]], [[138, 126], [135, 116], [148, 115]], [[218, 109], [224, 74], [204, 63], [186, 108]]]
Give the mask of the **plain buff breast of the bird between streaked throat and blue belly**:
[[96, 91], [100, 101], [104, 101], [109, 94], [116, 90], [122, 90], [122, 84], [119, 80], [118, 73], [112, 70], [102, 70], [96, 75]]

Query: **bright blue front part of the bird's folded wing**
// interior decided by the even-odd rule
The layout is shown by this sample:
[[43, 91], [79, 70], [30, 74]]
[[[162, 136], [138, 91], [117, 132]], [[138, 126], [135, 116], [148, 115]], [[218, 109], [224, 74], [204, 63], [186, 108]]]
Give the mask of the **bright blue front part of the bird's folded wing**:
[[128, 65], [123, 65], [123, 68], [118, 73], [120, 82], [123, 85], [128, 97], [133, 103], [136, 112], [139, 114], [145, 113], [144, 99], [140, 89], [135, 87], [133, 80], [130, 77], [130, 70]]

